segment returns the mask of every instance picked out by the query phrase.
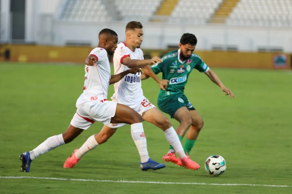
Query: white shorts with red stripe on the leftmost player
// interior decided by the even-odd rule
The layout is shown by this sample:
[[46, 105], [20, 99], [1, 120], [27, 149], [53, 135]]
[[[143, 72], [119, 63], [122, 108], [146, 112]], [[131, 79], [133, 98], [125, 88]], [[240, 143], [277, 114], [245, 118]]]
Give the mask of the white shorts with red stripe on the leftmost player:
[[116, 108], [117, 103], [108, 100], [78, 106], [70, 124], [80, 129], [88, 129], [95, 121], [109, 125], [116, 114]]

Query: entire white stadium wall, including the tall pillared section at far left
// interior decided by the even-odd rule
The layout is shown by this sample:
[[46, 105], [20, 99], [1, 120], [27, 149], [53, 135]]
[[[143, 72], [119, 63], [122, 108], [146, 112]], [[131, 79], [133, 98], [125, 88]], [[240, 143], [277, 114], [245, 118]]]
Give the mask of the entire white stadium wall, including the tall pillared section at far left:
[[[119, 40], [124, 40], [128, 21], [74, 22], [62, 21], [58, 15], [65, 0], [25, 1], [25, 40], [23, 43], [64, 46], [69, 44], [98, 44], [98, 33], [103, 28], [115, 30]], [[10, 0], [0, 1], [0, 41], [11, 43]], [[194, 25], [170, 22], [142, 22], [144, 49], [167, 49], [177, 46], [183, 33], [194, 33], [198, 38], [198, 50], [238, 50], [257, 52], [277, 50], [292, 53], [292, 28], [228, 26], [225, 24]], [[17, 40], [19, 43], [20, 40]]]

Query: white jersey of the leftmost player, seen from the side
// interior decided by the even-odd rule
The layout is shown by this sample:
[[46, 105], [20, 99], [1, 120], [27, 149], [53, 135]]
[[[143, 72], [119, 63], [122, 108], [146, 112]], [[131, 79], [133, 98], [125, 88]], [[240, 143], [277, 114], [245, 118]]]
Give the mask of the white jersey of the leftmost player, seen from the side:
[[95, 100], [107, 99], [111, 78], [107, 51], [103, 48], [95, 48], [89, 55], [94, 55], [98, 61], [94, 66], [85, 65], [83, 93], [77, 99], [76, 107], [90, 104]]

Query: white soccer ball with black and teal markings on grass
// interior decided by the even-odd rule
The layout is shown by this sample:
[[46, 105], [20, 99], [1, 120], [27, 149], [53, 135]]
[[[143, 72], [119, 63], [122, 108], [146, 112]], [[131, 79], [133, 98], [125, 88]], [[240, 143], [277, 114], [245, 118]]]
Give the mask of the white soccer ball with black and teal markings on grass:
[[212, 155], [205, 162], [205, 170], [214, 177], [218, 177], [226, 170], [226, 162], [222, 156]]

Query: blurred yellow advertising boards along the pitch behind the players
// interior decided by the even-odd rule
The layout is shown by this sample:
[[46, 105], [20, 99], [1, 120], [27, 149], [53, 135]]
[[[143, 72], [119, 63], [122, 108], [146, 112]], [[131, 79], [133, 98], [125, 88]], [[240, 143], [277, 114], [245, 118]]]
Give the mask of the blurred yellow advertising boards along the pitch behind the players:
[[[6, 45], [0, 52], [10, 51], [9, 61], [84, 63], [91, 47], [55, 47], [33, 45]], [[172, 49], [173, 50], [173, 49]], [[171, 50], [143, 49], [145, 59], [162, 57]], [[196, 51], [211, 67], [234, 68], [291, 68], [292, 55], [272, 52]], [[3, 61], [4, 57], [0, 57]]]

